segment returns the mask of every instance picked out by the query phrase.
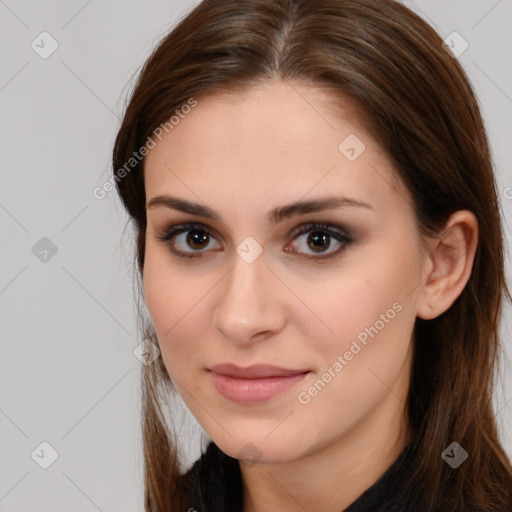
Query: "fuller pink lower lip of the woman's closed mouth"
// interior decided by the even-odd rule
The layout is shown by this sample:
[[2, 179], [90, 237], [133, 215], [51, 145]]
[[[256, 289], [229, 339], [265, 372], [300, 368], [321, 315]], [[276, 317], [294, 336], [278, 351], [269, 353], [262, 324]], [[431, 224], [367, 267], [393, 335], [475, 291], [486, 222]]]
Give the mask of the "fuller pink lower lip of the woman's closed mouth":
[[228, 400], [240, 404], [256, 404], [270, 400], [293, 388], [307, 375], [307, 373], [299, 373], [288, 377], [238, 379], [215, 372], [211, 374], [217, 391]]

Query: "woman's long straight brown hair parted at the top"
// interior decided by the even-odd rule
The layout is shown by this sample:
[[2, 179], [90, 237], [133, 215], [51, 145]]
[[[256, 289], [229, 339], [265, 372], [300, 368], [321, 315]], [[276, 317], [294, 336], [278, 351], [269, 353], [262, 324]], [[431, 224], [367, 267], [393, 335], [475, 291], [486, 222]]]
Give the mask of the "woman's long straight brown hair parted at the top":
[[[275, 78], [326, 86], [356, 102], [408, 187], [422, 233], [438, 232], [456, 210], [476, 215], [479, 244], [465, 289], [444, 314], [416, 320], [407, 402], [415, 459], [403, 486], [424, 511], [503, 508], [511, 498], [512, 467], [492, 397], [502, 300], [511, 297], [493, 164], [463, 68], [405, 6], [394, 0], [204, 0], [184, 17], [143, 65], [113, 148], [117, 190], [135, 228], [138, 273], [146, 197], [144, 160], [126, 171], [133, 152], [191, 98]], [[141, 330], [154, 336], [148, 325]], [[161, 358], [143, 366], [147, 512], [186, 510], [177, 440], [163, 408], [171, 388]], [[441, 458], [453, 441], [469, 454], [457, 470]]]

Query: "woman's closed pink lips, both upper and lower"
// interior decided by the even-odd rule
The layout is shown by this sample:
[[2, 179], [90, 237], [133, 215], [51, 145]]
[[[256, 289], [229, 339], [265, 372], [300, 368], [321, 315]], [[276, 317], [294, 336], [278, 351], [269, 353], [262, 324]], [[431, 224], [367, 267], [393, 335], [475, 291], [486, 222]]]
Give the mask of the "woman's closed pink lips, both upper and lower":
[[232, 363], [209, 368], [217, 391], [228, 400], [254, 404], [270, 400], [293, 388], [309, 370], [289, 370], [273, 365], [242, 368]]

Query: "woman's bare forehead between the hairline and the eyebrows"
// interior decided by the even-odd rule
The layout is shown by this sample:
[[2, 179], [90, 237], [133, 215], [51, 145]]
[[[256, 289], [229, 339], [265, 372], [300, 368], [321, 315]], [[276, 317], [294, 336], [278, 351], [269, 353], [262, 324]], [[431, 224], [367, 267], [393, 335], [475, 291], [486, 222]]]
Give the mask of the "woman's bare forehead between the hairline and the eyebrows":
[[407, 199], [349, 100], [276, 81], [197, 101], [146, 157], [148, 199], [180, 194], [222, 209], [236, 196], [265, 210], [326, 192], [384, 209]]

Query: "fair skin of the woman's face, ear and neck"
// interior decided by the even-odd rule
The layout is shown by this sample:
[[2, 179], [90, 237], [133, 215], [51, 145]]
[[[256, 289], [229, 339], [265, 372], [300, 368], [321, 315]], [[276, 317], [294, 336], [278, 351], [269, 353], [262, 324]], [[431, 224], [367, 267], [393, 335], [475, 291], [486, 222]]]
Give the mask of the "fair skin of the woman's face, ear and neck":
[[[225, 453], [252, 453], [254, 462], [240, 462], [244, 512], [339, 512], [393, 463], [410, 438], [404, 404], [415, 319], [451, 306], [476, 249], [468, 211], [452, 215], [440, 238], [422, 239], [407, 190], [355, 106], [332, 105], [320, 88], [282, 81], [216, 93], [199, 99], [145, 161], [148, 202], [169, 194], [221, 215], [148, 208], [143, 284], [163, 361], [186, 405]], [[355, 161], [338, 149], [350, 134], [366, 146]], [[371, 208], [268, 223], [272, 208], [327, 195]], [[174, 239], [200, 257], [179, 258], [158, 239], [184, 222], [212, 231], [203, 246], [187, 244], [187, 233]], [[318, 249], [308, 243], [315, 230], [292, 236], [306, 222], [344, 227], [353, 241], [343, 247], [328, 237], [320, 255], [332, 257], [315, 261]], [[252, 263], [236, 252], [248, 236], [263, 249]], [[395, 303], [394, 318], [300, 403], [299, 393]], [[311, 373], [271, 400], [241, 405], [219, 394], [207, 371], [228, 361]]]

